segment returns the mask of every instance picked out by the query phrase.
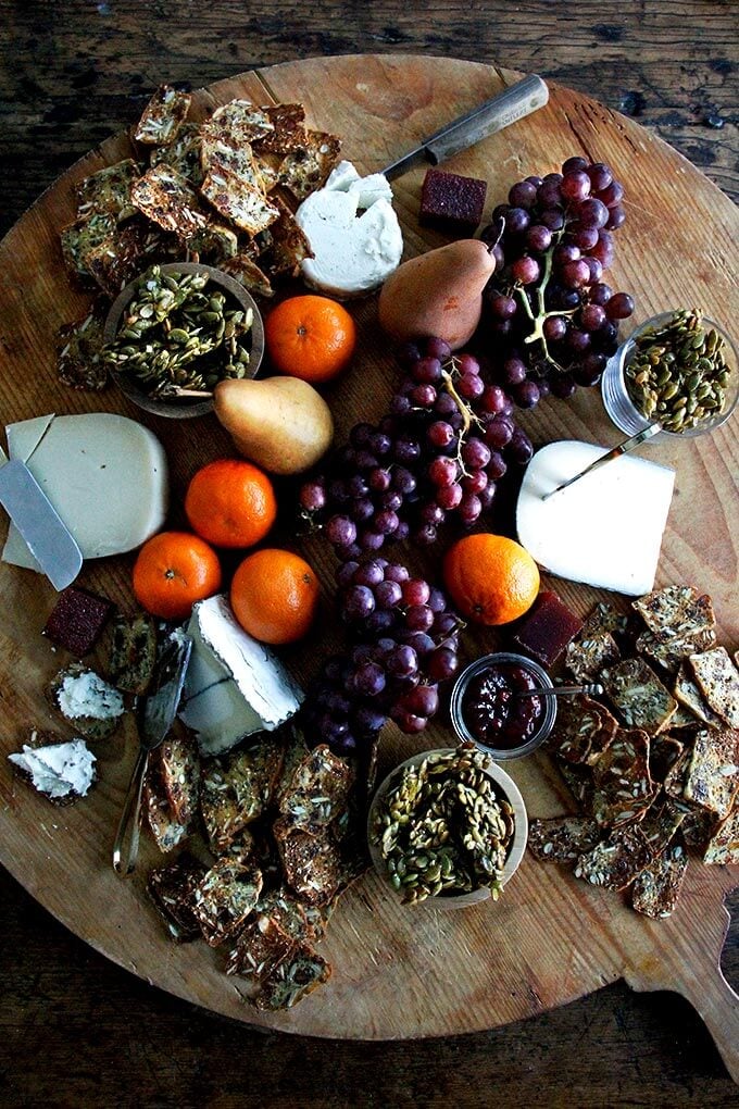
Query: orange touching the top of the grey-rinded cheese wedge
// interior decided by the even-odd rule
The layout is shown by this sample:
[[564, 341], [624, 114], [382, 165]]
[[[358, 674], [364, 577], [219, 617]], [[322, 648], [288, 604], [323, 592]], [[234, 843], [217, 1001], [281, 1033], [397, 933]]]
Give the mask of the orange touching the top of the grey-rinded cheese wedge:
[[305, 559], [267, 548], [244, 559], [230, 584], [242, 628], [263, 643], [301, 639], [316, 615], [318, 579]]

